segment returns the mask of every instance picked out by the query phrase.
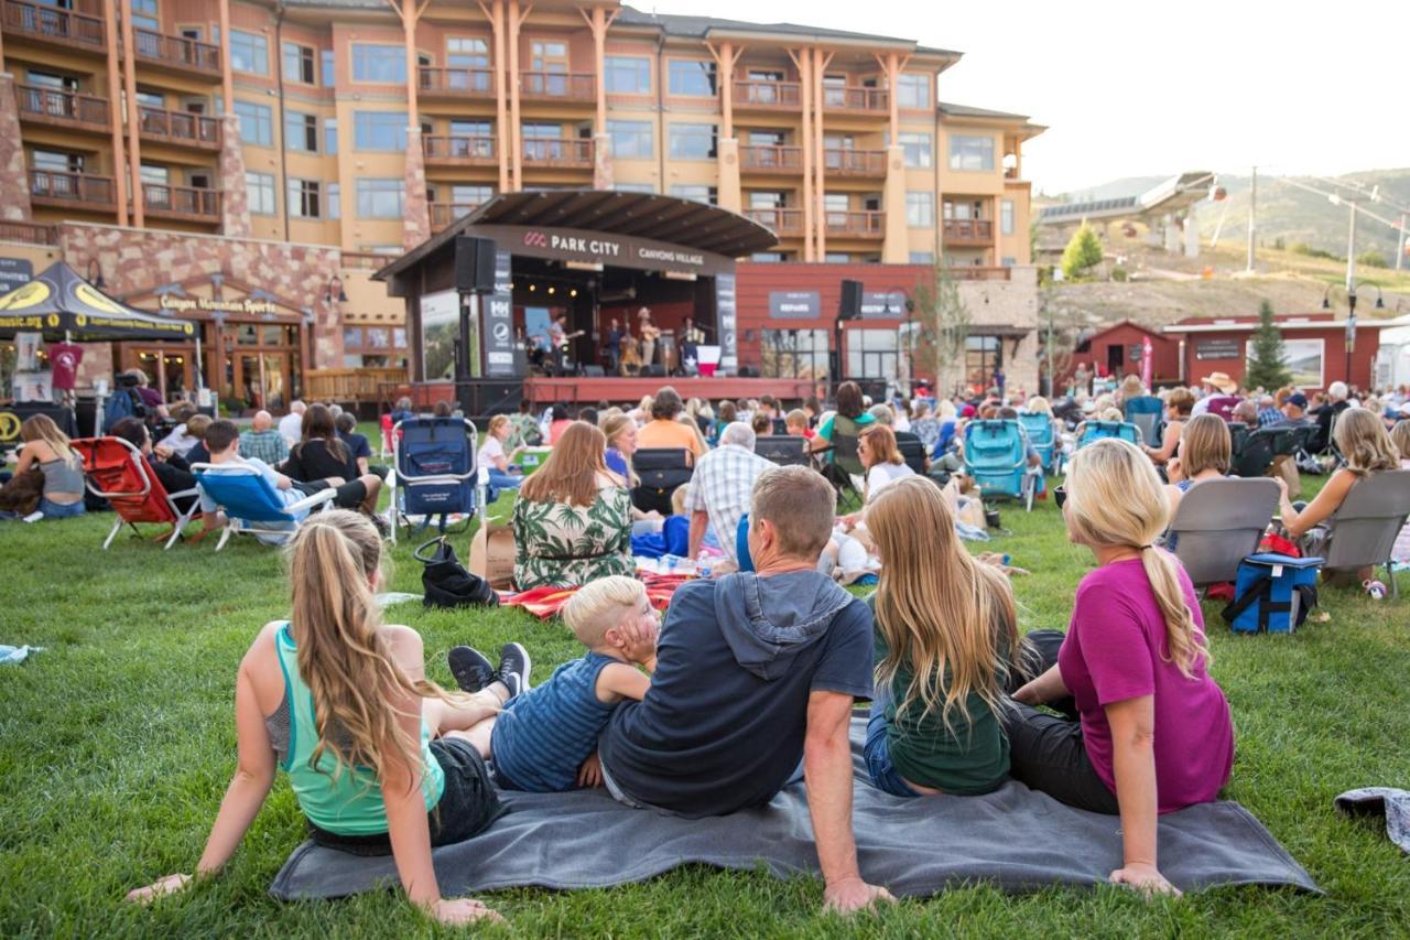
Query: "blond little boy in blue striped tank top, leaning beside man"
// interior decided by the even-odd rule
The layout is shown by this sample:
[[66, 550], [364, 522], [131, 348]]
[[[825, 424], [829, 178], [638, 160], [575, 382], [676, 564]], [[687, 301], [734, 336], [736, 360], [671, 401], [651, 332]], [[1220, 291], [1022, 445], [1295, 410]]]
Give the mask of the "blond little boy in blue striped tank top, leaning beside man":
[[[474, 725], [467, 737], [495, 768], [506, 790], [557, 793], [601, 786], [598, 735], [623, 699], [640, 701], [656, 669], [658, 615], [646, 587], [613, 574], [580, 589], [563, 620], [588, 655], [558, 666], [532, 690], [510, 689], [503, 710]], [[465, 692], [486, 687], [494, 669], [470, 646], [450, 651], [450, 670]]]

